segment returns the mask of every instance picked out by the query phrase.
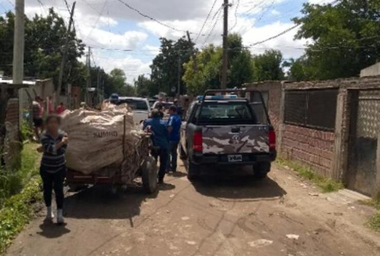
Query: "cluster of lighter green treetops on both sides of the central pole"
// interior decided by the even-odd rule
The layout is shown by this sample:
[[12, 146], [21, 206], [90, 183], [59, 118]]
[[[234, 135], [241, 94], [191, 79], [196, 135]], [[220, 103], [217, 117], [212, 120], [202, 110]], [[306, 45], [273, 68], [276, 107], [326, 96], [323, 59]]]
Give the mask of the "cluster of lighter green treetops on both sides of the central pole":
[[[230, 34], [228, 37], [229, 63], [227, 88], [241, 87], [243, 83], [283, 79], [281, 69], [282, 54], [269, 50], [252, 56], [242, 45], [241, 36]], [[185, 63], [182, 79], [192, 94], [201, 94], [206, 89], [220, 88], [222, 67], [222, 48], [208, 45]]]

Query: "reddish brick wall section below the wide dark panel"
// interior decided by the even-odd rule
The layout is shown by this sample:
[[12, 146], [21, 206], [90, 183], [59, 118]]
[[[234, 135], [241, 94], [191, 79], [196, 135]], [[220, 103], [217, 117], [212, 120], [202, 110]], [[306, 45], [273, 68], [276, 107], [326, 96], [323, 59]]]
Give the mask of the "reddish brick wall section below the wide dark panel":
[[322, 175], [331, 177], [334, 133], [284, 124], [282, 156], [310, 165]]

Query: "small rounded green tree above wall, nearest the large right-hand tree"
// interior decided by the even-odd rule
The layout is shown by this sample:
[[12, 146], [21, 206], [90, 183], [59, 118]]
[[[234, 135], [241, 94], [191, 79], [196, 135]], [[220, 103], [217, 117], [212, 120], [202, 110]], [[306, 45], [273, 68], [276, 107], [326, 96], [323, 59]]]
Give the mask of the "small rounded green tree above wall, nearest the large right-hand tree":
[[282, 80], [284, 74], [281, 68], [282, 53], [278, 50], [266, 50], [263, 54], [254, 56], [256, 80]]

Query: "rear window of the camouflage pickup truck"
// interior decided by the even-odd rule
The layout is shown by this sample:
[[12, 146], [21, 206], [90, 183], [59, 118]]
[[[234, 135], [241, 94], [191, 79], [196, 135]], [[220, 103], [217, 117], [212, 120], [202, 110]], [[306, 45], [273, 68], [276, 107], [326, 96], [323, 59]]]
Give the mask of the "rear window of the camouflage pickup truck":
[[225, 121], [241, 122], [241, 123], [256, 123], [256, 117], [250, 109], [250, 105], [246, 102], [232, 102], [232, 101], [215, 101], [205, 102], [202, 106], [202, 112], [199, 114], [200, 104], [194, 117], [199, 118], [199, 121], [204, 122], [218, 122]]

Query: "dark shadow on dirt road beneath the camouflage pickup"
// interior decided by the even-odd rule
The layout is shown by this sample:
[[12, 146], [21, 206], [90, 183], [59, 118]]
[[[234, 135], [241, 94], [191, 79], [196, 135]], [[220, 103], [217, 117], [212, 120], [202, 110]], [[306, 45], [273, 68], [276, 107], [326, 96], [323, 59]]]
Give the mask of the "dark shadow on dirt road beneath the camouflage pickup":
[[276, 181], [257, 180], [252, 167], [210, 167], [192, 182], [198, 193], [221, 200], [276, 200], [287, 192]]

